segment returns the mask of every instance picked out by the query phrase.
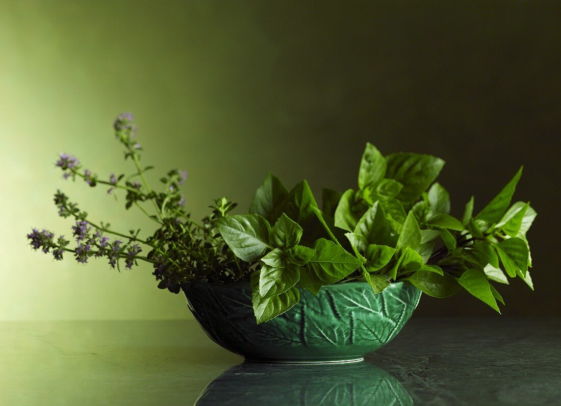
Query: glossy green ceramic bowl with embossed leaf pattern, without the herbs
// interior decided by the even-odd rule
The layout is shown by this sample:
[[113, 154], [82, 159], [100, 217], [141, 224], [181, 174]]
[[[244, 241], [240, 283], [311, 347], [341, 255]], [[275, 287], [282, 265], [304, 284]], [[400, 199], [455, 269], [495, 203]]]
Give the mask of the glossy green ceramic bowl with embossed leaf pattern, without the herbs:
[[215, 343], [260, 362], [361, 361], [401, 331], [421, 297], [403, 282], [380, 294], [366, 282], [327, 285], [318, 296], [300, 289], [296, 306], [258, 325], [249, 283], [191, 283], [183, 290]]

